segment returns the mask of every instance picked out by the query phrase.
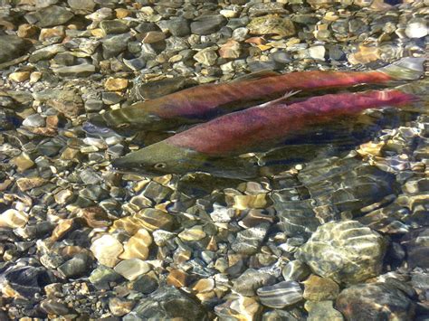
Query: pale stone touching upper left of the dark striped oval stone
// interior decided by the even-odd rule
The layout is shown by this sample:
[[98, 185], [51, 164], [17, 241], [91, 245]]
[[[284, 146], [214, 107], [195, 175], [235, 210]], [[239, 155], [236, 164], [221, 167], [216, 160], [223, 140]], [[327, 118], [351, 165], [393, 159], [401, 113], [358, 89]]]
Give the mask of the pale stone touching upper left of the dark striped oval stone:
[[275, 281], [271, 274], [257, 269], [246, 269], [240, 277], [233, 280], [233, 290], [244, 297], [253, 297], [257, 288], [271, 286]]

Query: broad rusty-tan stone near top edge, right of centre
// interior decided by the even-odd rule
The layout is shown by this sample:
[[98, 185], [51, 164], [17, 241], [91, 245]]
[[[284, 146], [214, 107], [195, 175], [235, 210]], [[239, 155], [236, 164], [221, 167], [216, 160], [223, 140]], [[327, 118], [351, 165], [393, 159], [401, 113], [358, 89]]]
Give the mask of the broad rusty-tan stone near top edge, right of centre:
[[275, 14], [267, 14], [253, 18], [251, 22], [247, 24], [247, 28], [252, 34], [275, 33], [282, 37], [295, 34], [295, 26], [291, 19], [282, 18]]

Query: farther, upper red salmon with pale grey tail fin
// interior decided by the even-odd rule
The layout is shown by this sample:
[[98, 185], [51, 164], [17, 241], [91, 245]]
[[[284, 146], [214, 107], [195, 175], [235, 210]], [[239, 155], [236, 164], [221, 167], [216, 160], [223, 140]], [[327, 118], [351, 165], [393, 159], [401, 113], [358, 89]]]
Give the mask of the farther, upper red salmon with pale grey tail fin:
[[423, 58], [403, 58], [377, 71], [298, 71], [251, 74], [249, 79], [205, 84], [129, 107], [97, 115], [83, 128], [97, 134], [98, 128], [167, 130], [280, 98], [292, 90], [344, 88], [358, 84], [379, 84], [392, 80], [416, 80], [423, 73]]

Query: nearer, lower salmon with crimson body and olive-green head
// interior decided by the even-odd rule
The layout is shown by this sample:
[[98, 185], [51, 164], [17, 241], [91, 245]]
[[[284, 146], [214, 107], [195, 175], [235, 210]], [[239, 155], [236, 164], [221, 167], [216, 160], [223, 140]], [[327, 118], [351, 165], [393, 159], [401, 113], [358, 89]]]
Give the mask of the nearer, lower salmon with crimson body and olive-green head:
[[424, 94], [427, 90], [427, 83], [422, 84], [424, 81], [416, 81], [394, 90], [329, 94], [291, 105], [284, 99], [277, 99], [196, 125], [115, 159], [112, 165], [147, 175], [198, 171], [224, 175], [234, 172], [234, 168], [229, 168], [229, 160], [235, 158], [238, 160], [234, 164], [236, 174], [253, 176], [254, 171], [245, 173], [243, 169], [245, 158], [231, 156], [255, 152], [261, 146], [275, 146], [310, 127], [354, 116], [365, 109], [409, 104], [417, 99], [416, 94]]

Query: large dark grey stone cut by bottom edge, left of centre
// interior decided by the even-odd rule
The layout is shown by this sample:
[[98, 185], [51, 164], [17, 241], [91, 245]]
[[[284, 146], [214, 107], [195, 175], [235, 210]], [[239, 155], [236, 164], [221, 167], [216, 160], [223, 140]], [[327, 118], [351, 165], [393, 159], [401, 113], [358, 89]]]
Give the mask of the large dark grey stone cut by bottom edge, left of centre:
[[144, 320], [209, 320], [205, 308], [194, 299], [174, 287], [166, 286], [138, 301], [133, 313]]

